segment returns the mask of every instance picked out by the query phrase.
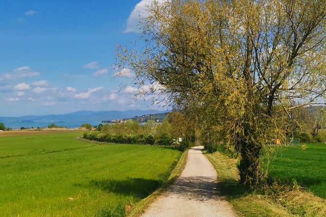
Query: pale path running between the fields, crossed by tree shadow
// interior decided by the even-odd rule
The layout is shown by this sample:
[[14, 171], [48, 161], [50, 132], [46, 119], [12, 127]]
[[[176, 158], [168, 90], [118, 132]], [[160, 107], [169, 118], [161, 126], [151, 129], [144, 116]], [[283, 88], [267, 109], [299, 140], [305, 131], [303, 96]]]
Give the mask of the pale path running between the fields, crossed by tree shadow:
[[181, 176], [143, 217], [235, 217], [231, 205], [217, 194], [216, 171], [202, 149], [189, 150]]

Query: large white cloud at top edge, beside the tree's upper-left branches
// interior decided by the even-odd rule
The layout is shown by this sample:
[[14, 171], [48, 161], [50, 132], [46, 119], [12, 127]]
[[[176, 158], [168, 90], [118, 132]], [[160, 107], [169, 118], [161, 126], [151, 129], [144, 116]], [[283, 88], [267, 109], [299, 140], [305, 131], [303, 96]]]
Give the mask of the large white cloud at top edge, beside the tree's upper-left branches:
[[[149, 13], [146, 11], [146, 5], [151, 4], [154, 0], [141, 0], [136, 4], [134, 10], [130, 14], [127, 20], [127, 27], [125, 29], [125, 33], [139, 33], [138, 24], [141, 18], [146, 18], [149, 16]], [[168, 0], [156, 0], [158, 3], [164, 3]]]

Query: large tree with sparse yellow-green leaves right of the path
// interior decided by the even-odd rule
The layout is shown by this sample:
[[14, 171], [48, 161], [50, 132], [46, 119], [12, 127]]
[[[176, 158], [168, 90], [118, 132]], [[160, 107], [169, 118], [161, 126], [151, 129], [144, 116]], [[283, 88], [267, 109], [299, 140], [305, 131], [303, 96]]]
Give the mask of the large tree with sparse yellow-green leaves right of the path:
[[326, 1], [171, 0], [147, 10], [145, 46], [120, 46], [118, 66], [231, 145], [241, 182], [258, 183], [261, 150], [285, 138], [290, 111], [324, 104]]

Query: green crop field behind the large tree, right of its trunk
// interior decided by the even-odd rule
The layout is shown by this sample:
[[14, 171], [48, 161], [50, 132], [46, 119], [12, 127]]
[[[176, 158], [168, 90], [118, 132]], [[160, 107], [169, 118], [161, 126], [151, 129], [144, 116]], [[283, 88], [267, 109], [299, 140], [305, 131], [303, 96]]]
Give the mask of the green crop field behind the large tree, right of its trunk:
[[307, 145], [307, 150], [301, 150], [300, 146], [283, 147], [270, 165], [270, 176], [291, 184], [295, 180], [326, 199], [326, 145]]

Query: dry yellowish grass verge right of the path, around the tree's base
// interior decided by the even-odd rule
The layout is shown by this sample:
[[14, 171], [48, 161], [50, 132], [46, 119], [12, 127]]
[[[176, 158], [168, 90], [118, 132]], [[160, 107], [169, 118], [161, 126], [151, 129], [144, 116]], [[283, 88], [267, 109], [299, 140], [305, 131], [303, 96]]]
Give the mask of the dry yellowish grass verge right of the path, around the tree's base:
[[[218, 174], [218, 187], [223, 196], [242, 217], [322, 217], [326, 216], [326, 202], [300, 189], [278, 189], [262, 194], [249, 191], [238, 184], [239, 175], [236, 160], [219, 152], [206, 155]], [[269, 193], [270, 193], [269, 192]]]

